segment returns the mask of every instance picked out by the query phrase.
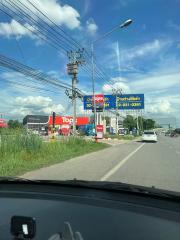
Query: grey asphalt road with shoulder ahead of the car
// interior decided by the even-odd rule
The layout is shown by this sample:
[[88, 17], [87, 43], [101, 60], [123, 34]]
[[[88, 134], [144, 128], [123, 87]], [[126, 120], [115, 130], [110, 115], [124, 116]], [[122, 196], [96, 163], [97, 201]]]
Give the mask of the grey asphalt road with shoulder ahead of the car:
[[180, 191], [180, 138], [127, 142], [23, 175], [30, 179], [118, 181]]

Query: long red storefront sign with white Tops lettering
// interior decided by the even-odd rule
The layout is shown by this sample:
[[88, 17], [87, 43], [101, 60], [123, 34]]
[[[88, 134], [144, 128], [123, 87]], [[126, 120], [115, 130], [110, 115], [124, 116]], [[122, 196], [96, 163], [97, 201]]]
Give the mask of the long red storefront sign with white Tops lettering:
[[[73, 117], [71, 116], [56, 116], [55, 118], [55, 125], [63, 125], [63, 124], [69, 124], [72, 125], [73, 123]], [[77, 117], [76, 118], [76, 125], [86, 125], [89, 123], [89, 117]], [[48, 121], [49, 125], [53, 124], [52, 116], [49, 117]]]

